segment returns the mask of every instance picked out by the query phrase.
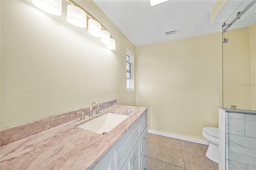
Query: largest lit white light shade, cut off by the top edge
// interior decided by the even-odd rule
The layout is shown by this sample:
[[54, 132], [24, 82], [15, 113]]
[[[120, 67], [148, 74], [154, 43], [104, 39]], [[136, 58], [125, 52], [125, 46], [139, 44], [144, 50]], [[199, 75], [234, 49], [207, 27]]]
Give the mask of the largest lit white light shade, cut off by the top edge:
[[61, 15], [62, 0], [33, 0], [35, 6], [53, 15]]

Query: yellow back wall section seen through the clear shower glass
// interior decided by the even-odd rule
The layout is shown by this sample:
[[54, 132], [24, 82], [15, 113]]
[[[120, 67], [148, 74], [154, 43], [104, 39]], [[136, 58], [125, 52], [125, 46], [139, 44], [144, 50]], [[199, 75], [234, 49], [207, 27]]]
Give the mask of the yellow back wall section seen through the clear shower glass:
[[223, 105], [251, 110], [251, 66], [249, 27], [228, 30], [223, 44]]

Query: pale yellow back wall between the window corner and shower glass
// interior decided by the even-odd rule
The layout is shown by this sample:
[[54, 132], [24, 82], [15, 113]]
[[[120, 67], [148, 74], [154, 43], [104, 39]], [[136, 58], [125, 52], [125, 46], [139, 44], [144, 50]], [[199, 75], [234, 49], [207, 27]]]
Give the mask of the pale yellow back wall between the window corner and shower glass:
[[[180, 34], [180, 33], [179, 33]], [[136, 106], [148, 128], [204, 139], [222, 107], [222, 33], [136, 47]]]

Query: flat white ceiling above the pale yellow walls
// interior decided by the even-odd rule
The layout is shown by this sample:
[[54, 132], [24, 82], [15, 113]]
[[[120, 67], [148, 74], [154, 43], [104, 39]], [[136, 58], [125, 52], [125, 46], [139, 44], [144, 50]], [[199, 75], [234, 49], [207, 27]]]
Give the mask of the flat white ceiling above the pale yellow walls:
[[[234, 5], [210, 24], [215, 0], [169, 0], [156, 6], [150, 6], [149, 0], [94, 0], [135, 46], [221, 32], [226, 16], [242, 2], [228, 1]], [[178, 34], [165, 35], [176, 29]]]

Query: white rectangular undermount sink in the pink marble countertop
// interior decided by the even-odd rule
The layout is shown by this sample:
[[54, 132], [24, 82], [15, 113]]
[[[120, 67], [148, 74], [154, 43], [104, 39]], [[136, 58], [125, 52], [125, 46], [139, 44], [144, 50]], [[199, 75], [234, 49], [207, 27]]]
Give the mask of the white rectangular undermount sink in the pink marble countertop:
[[[105, 113], [95, 119], [85, 122], [77, 127], [96, 132], [98, 134], [105, 134], [112, 130], [114, 127], [124, 121], [128, 115], [121, 115], [116, 113]], [[104, 132], [104, 133], [103, 133]]]

